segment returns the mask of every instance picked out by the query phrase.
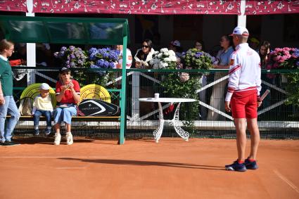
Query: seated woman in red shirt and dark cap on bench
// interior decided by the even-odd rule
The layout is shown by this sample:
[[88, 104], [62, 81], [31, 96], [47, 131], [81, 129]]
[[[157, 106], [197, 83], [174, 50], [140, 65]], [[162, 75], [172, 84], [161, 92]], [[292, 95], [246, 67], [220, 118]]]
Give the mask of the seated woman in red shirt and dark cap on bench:
[[57, 106], [54, 111], [55, 141], [54, 145], [61, 143], [61, 122], [66, 125], [66, 143], [71, 145], [71, 121], [72, 116], [77, 115], [77, 103], [80, 101], [80, 86], [75, 79], [70, 79], [70, 69], [61, 68], [59, 81], [56, 82]]

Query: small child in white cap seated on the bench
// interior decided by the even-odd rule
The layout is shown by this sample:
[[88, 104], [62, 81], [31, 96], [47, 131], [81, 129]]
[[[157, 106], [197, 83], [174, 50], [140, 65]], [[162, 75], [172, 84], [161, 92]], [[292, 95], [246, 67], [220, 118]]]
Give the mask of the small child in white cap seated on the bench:
[[33, 122], [34, 122], [34, 135], [39, 135], [39, 117], [44, 115], [46, 117], [46, 129], [45, 134], [51, 133], [51, 114], [53, 112], [53, 105], [51, 102], [51, 96], [49, 95], [49, 84], [42, 83], [39, 86], [39, 95], [34, 98], [33, 102]]

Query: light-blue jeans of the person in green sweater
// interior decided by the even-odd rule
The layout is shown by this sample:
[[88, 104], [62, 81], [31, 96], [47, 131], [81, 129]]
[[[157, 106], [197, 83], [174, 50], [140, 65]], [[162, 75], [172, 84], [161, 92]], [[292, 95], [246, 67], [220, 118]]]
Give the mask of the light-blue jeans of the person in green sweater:
[[[0, 141], [11, 141], [13, 129], [20, 118], [20, 112], [13, 96], [4, 96], [5, 104], [0, 105]], [[6, 115], [11, 115], [11, 118], [7, 120], [5, 127]]]

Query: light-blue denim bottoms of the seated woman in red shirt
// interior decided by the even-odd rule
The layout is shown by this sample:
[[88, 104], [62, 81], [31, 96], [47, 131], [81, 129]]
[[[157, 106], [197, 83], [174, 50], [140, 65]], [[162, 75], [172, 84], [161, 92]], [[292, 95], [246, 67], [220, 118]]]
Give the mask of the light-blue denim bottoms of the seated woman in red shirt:
[[61, 122], [70, 124], [72, 122], [72, 116], [76, 115], [77, 108], [75, 107], [75, 105], [69, 106], [68, 108], [56, 108], [54, 110], [54, 122], [55, 124], [61, 124]]

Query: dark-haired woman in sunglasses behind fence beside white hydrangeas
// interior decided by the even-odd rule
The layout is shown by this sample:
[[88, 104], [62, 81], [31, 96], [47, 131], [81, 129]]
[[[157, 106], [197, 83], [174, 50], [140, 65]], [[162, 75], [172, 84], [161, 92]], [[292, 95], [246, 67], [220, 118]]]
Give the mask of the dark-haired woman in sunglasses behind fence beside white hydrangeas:
[[134, 56], [135, 68], [148, 68], [148, 63], [153, 58], [154, 51], [151, 39], [144, 39], [142, 48], [138, 49]]

